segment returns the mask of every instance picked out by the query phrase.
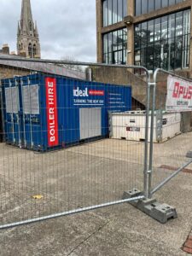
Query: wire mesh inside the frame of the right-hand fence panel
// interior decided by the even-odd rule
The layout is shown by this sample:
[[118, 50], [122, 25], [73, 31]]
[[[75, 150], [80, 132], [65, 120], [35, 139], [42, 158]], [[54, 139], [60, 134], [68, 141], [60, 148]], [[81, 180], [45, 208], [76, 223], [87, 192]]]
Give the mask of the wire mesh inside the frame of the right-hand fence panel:
[[[190, 161], [187, 153], [191, 151], [191, 111], [190, 108], [184, 109], [191, 105], [191, 81], [163, 70], [156, 74], [152, 189], [174, 175], [182, 166], [178, 175], [183, 175], [182, 172], [192, 173], [192, 165], [185, 166]], [[178, 91], [175, 98], [175, 83], [169, 85], [171, 78], [177, 79], [182, 87], [183, 83], [188, 84], [185, 89], [183, 87], [183, 90]]]

